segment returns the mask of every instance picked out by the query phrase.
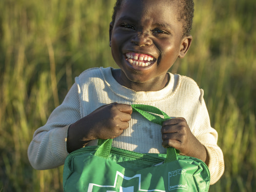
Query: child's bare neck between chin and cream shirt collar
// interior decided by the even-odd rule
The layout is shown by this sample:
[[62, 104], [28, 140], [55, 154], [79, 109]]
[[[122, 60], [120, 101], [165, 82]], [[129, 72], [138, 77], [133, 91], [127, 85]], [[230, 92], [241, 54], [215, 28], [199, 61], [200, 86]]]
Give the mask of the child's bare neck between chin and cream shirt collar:
[[163, 89], [169, 82], [170, 77], [168, 74], [160, 76], [152, 81], [147, 82], [133, 82], [130, 81], [124, 74], [122, 74], [120, 69], [113, 69], [112, 75], [124, 87], [127, 87], [134, 91], [159, 91]]

